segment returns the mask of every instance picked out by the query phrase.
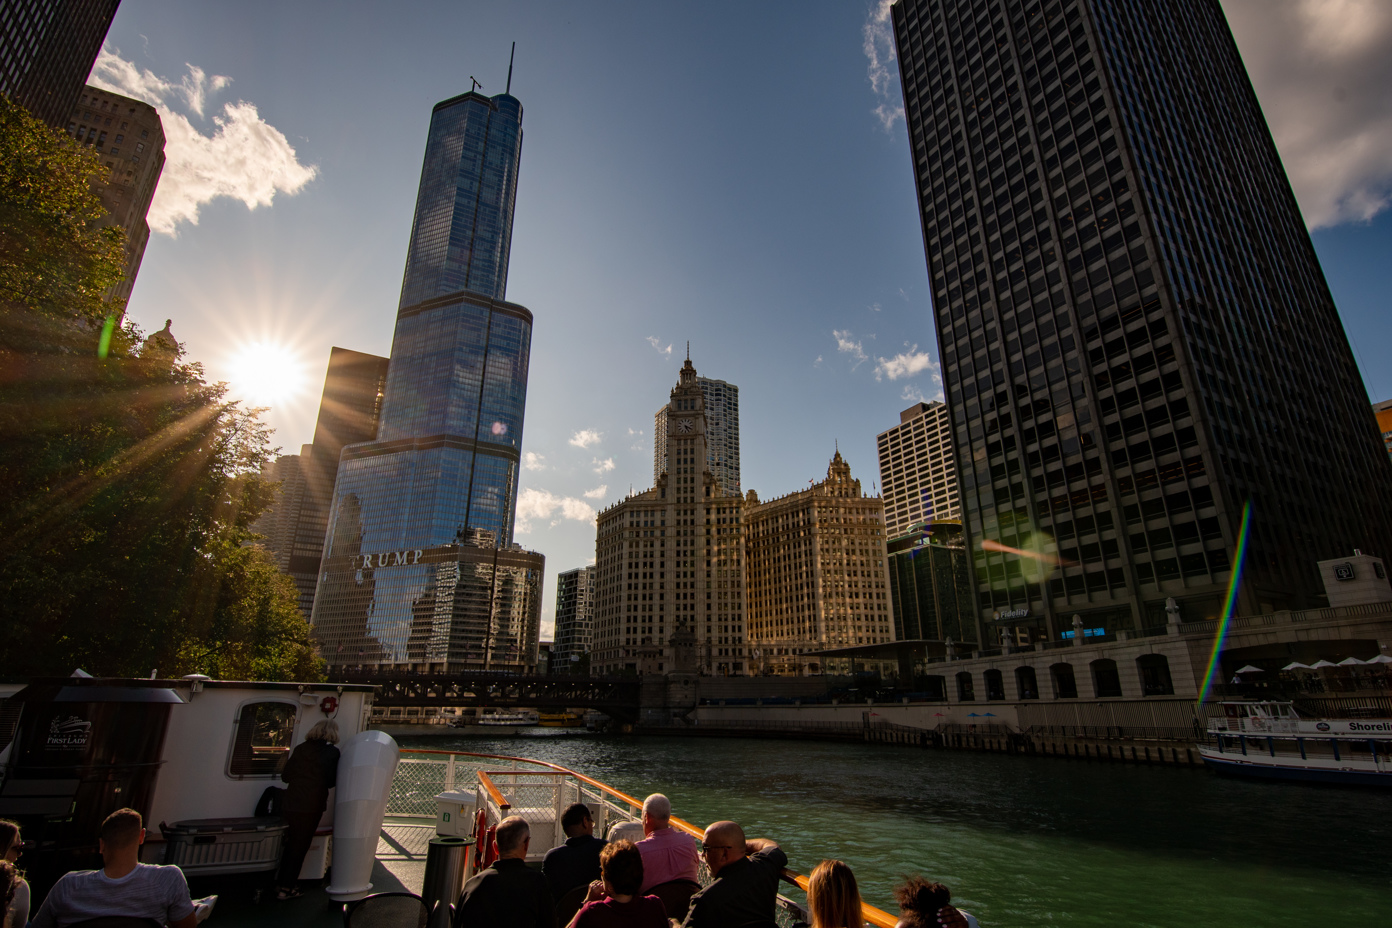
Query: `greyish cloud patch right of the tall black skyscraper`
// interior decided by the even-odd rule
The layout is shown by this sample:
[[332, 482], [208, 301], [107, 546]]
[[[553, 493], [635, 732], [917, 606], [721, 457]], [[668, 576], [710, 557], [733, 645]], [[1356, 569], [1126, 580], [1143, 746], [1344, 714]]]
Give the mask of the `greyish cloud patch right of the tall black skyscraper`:
[[1392, 4], [1224, 0], [1310, 228], [1392, 205]]

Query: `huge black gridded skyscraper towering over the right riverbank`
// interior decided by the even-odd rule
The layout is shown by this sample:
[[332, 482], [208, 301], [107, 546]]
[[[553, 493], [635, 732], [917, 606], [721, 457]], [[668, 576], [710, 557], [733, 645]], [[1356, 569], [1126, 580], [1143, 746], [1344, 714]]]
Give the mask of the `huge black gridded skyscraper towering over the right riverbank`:
[[1217, 615], [1247, 502], [1242, 612], [1386, 557], [1388, 455], [1218, 1], [892, 15], [983, 618]]

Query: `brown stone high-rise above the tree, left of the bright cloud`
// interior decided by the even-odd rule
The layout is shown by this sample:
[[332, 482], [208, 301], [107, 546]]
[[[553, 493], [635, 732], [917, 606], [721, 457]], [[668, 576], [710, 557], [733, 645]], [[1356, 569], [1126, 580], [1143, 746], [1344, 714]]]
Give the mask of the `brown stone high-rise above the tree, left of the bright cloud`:
[[84, 86], [68, 114], [67, 129], [106, 166], [104, 174], [92, 178], [92, 189], [106, 209], [104, 224], [125, 232], [125, 267], [106, 298], [124, 302], [131, 298], [150, 241], [145, 217], [164, 170], [164, 124], [149, 103]]

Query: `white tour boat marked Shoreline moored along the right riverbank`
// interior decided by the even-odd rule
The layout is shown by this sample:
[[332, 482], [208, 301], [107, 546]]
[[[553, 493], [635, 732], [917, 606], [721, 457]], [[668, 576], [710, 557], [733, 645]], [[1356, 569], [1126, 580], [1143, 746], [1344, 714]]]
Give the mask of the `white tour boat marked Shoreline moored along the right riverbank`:
[[1392, 719], [1300, 718], [1278, 700], [1218, 705], [1199, 754], [1219, 774], [1392, 786]]

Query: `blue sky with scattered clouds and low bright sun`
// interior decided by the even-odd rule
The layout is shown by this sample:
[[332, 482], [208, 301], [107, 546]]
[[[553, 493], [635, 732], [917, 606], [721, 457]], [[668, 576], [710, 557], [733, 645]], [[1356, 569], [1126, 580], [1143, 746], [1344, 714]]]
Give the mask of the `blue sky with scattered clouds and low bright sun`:
[[[1224, 7], [1354, 345], [1392, 397], [1392, 4]], [[941, 397], [883, 0], [189, 4], [124, 0], [92, 81], [160, 109], [168, 161], [129, 301], [285, 454], [329, 349], [388, 355], [430, 109], [512, 93], [507, 298], [535, 314], [516, 540], [555, 575], [653, 483], [692, 363], [741, 390], [742, 483], [866, 490], [876, 435]], [[298, 384], [298, 391], [295, 385]]]

